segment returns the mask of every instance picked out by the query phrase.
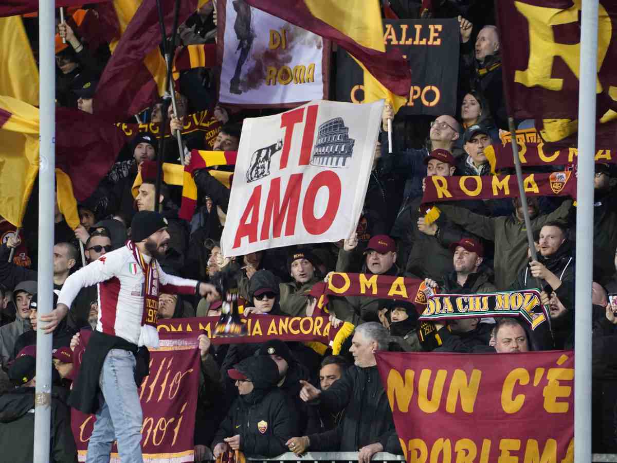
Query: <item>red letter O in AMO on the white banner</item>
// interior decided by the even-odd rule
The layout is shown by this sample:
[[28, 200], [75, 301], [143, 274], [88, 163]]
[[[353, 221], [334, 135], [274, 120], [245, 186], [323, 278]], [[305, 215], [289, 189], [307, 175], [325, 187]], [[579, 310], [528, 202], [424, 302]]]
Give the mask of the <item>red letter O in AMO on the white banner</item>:
[[[326, 212], [320, 219], [317, 219], [313, 209], [317, 192], [323, 186], [328, 188], [328, 205], [326, 206]], [[339, 204], [341, 204], [341, 179], [331, 170], [321, 171], [309, 183], [307, 194], [304, 197], [304, 203], [302, 204], [304, 228], [311, 235], [321, 235], [321, 233], [324, 233], [334, 222], [336, 212], [339, 210]]]

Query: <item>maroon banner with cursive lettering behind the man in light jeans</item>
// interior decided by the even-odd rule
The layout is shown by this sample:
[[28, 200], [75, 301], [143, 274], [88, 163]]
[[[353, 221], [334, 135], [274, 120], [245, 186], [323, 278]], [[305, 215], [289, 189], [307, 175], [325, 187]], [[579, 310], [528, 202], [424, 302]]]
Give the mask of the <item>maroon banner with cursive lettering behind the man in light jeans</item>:
[[[81, 343], [73, 352], [76, 370], [89, 338], [84, 333], [89, 335], [82, 330]], [[141, 449], [146, 463], [194, 461], [193, 433], [201, 374], [199, 334], [159, 333], [159, 348], [150, 349], [150, 375], [138, 390], [144, 415]], [[79, 461], [86, 461], [95, 421], [94, 415], [71, 409], [71, 428]], [[110, 461], [120, 463], [117, 444], [112, 448]]]

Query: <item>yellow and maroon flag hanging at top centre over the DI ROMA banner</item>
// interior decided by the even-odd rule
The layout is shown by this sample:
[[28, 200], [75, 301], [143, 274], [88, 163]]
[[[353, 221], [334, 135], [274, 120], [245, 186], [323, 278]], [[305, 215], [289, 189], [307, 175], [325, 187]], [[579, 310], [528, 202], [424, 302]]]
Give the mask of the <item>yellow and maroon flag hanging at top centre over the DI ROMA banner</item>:
[[[246, 0], [344, 48], [392, 95], [407, 98], [412, 76], [400, 51], [386, 51], [379, 0]], [[365, 73], [366, 74], [366, 73]], [[366, 82], [366, 80], [365, 80]], [[366, 85], [366, 84], [365, 84]], [[376, 88], [375, 92], [381, 89]], [[387, 98], [384, 93], [379, 98]], [[397, 99], [391, 98], [394, 105]]]

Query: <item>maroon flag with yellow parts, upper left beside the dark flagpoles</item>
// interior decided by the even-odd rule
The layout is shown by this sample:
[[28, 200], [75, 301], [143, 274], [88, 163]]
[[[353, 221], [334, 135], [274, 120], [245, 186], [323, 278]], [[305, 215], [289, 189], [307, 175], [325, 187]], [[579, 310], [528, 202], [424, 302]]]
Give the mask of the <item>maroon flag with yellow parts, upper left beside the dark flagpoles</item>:
[[[180, 2], [178, 23], [205, 3], [205, 0]], [[165, 30], [171, 35], [175, 0], [160, 2]], [[94, 95], [94, 111], [110, 122], [129, 119], [164, 93], [165, 60], [159, 51], [161, 31], [157, 2], [153, 0], [114, 0], [115, 17], [106, 21], [118, 27], [120, 40], [112, 41], [112, 57], [101, 75]]]

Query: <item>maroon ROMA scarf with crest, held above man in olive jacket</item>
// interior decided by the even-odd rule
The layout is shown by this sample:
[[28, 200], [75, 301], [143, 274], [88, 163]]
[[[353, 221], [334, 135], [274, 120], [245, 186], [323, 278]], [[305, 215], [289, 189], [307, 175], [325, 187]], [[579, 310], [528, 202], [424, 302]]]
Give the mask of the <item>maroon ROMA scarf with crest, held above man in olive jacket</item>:
[[[576, 198], [574, 172], [528, 173], [523, 176], [528, 196], [570, 196]], [[464, 175], [426, 178], [422, 203], [518, 197], [516, 175]]]

